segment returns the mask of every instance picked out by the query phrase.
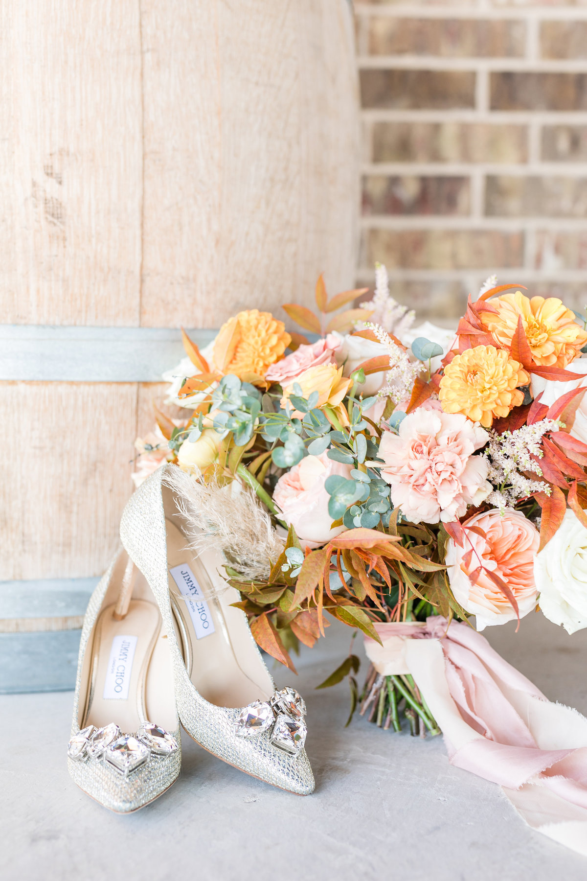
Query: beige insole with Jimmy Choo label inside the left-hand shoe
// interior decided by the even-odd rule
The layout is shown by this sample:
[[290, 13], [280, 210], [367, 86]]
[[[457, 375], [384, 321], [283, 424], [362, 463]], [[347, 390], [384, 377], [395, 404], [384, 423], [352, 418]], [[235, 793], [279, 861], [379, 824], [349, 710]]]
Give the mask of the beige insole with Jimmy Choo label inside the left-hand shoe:
[[[80, 728], [101, 728], [115, 722], [123, 733], [130, 734], [146, 721], [165, 726], [164, 720], [149, 718], [147, 707], [147, 674], [161, 631], [158, 606], [131, 599], [128, 613], [120, 621], [113, 617], [114, 609], [114, 603], [106, 606], [96, 621], [90, 691]], [[167, 682], [171, 683], [171, 667], [167, 666]], [[152, 699], [152, 689], [150, 693]]]

